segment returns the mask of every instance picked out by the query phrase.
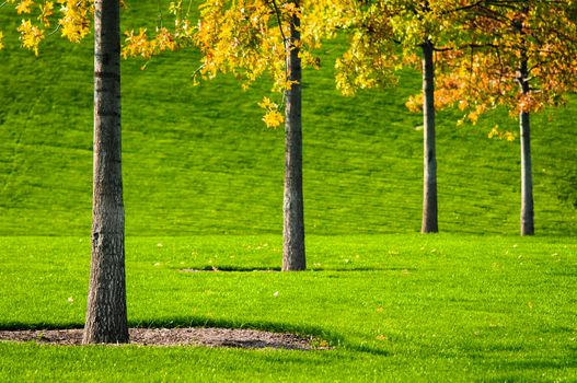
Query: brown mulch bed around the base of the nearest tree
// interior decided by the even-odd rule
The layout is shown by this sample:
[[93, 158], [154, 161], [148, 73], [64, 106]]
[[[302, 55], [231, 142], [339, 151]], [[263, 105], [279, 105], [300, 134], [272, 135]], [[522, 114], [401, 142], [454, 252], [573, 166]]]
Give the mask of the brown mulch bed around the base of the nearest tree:
[[[129, 334], [130, 345], [137, 346], [205, 346], [288, 350], [331, 349], [326, 341], [313, 337], [255, 329], [130, 328]], [[82, 329], [0, 330], [0, 340], [74, 346], [82, 344]]]

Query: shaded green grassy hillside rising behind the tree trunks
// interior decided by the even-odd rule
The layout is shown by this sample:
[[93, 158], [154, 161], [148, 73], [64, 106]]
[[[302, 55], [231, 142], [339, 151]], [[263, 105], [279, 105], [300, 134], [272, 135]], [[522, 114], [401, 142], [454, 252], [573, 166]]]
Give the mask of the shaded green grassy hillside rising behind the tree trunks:
[[[0, 51], [0, 235], [88, 235], [92, 172], [92, 46], [51, 38], [35, 58], [7, 34]], [[134, 1], [125, 27], [157, 20], [155, 1]], [[404, 107], [419, 76], [345, 98], [334, 90], [336, 43], [323, 69], [304, 73], [305, 227], [310, 234], [411, 233], [420, 228], [420, 118]], [[243, 92], [231, 78], [193, 86], [194, 51], [123, 62], [124, 177], [128, 235], [259, 234], [281, 231], [284, 134], [256, 106], [267, 79]], [[539, 235], [577, 234], [575, 103], [533, 121]], [[440, 230], [517, 234], [519, 142], [506, 114], [457, 127], [438, 116]]]

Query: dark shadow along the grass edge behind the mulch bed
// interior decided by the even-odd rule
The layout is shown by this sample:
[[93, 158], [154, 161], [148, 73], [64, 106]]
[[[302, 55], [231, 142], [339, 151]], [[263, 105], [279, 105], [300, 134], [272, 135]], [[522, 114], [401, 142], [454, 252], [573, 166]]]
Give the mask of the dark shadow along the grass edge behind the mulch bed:
[[[72, 329], [83, 328], [83, 323], [0, 323], [0, 330], [39, 330], [39, 329]], [[158, 320], [128, 321], [128, 327], [134, 328], [188, 328], [215, 327], [230, 329], [255, 329], [270, 333], [296, 334], [304, 338], [312, 338], [313, 347], [345, 348], [354, 351], [368, 352], [378, 356], [389, 356], [383, 349], [353, 344], [337, 333], [316, 326], [291, 325], [277, 322], [239, 322], [223, 318], [208, 318], [204, 316], [186, 316]]]

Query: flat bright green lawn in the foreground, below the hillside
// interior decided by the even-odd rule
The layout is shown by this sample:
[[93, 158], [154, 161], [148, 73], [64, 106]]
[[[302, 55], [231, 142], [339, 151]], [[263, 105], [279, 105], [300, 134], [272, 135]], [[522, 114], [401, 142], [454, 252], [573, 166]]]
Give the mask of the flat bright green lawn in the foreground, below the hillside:
[[[4, 237], [0, 248], [0, 327], [82, 326], [84, 240]], [[278, 265], [276, 235], [131, 237], [127, 248], [134, 326], [291, 330], [336, 349], [0, 344], [0, 380], [570, 381], [577, 373], [575, 240], [312, 236], [311, 270], [298, 274], [258, 270]], [[207, 266], [257, 270], [181, 271]]]

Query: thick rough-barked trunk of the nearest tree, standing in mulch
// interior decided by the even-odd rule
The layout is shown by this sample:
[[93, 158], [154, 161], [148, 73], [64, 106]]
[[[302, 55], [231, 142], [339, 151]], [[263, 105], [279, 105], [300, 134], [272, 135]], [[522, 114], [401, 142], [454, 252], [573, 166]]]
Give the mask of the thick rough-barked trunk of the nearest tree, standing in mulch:
[[92, 262], [84, 344], [127, 343], [118, 0], [94, 2]]

